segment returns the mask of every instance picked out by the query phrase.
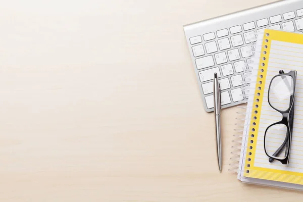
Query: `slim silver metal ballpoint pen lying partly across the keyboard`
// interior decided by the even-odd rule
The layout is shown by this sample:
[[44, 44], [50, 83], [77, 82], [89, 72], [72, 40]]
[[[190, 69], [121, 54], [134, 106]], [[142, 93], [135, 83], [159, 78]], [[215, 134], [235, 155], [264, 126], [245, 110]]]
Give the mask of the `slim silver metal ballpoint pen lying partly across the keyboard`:
[[214, 109], [215, 109], [215, 121], [216, 121], [216, 136], [217, 136], [217, 155], [220, 173], [222, 171], [222, 146], [221, 146], [221, 90], [220, 84], [217, 78], [217, 73], [214, 75]]

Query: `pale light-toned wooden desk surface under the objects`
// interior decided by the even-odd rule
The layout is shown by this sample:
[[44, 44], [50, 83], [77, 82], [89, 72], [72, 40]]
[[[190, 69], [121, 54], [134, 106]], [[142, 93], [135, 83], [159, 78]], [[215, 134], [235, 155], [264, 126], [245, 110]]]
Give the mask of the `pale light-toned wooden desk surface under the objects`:
[[79, 2], [1, 5], [0, 201], [302, 198], [228, 172], [236, 108], [219, 173], [182, 28], [271, 0]]

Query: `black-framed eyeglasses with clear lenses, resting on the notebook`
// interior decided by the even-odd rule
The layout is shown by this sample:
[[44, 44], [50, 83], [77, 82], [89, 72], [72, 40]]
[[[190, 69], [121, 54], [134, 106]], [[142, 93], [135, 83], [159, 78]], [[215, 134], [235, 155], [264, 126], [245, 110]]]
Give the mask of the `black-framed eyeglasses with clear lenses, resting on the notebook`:
[[288, 164], [294, 116], [294, 96], [296, 83], [295, 70], [284, 73], [283, 70], [274, 76], [269, 84], [268, 103], [282, 114], [282, 120], [271, 124], [265, 130], [264, 150], [270, 158], [282, 164]]

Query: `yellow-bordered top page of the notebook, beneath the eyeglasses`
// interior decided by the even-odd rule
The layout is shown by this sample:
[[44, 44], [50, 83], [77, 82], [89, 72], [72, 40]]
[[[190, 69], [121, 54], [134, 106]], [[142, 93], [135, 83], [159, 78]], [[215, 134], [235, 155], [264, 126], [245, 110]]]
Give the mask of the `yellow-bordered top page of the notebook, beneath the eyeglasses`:
[[[264, 63], [264, 64], [263, 64]], [[268, 104], [268, 87], [273, 76], [297, 71], [294, 123], [288, 165], [269, 162], [264, 150], [266, 128], [282, 119]], [[259, 95], [260, 93], [260, 95]], [[303, 34], [266, 29], [250, 116], [244, 177], [303, 185]]]

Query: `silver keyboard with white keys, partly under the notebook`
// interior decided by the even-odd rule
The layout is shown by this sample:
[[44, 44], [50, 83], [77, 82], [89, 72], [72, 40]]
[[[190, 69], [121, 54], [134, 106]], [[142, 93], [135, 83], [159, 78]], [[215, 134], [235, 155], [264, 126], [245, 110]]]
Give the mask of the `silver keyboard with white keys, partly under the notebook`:
[[265, 28], [303, 31], [303, 0], [284, 0], [183, 27], [207, 112], [214, 111], [213, 79], [217, 72], [221, 106], [239, 105], [245, 63], [251, 57], [251, 34]]

